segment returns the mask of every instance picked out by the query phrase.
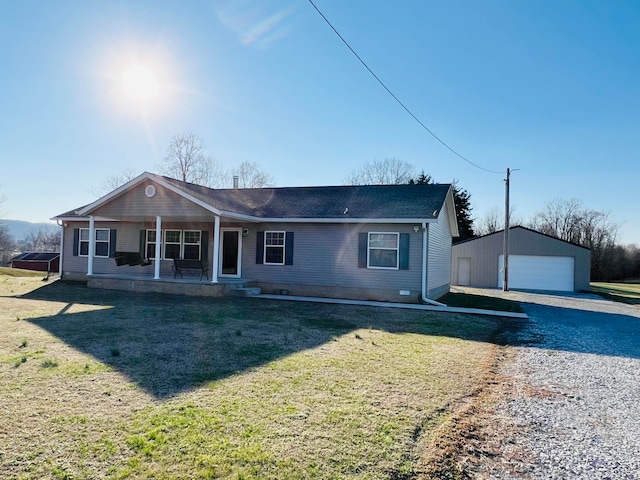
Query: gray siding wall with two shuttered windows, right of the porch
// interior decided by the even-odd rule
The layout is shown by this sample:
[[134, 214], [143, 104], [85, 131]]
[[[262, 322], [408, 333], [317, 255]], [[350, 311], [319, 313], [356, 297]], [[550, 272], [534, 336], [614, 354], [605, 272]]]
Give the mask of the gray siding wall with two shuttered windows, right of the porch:
[[[256, 231], [294, 232], [293, 265], [256, 264]], [[398, 232], [409, 236], [409, 269], [358, 268], [361, 232]], [[257, 282], [361, 287], [420, 292], [422, 233], [413, 225], [260, 224], [243, 238], [242, 277]], [[397, 292], [396, 292], [397, 293]]]

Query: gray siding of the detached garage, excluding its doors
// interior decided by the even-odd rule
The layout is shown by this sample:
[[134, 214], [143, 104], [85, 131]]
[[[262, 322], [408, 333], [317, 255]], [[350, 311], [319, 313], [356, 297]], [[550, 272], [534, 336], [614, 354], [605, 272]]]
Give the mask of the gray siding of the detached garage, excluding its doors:
[[[498, 258], [503, 254], [504, 232], [454, 245], [451, 257], [451, 279], [458, 284], [459, 258], [470, 258], [469, 284], [480, 288], [497, 288]], [[541, 255], [574, 258], [574, 288], [588, 290], [591, 268], [591, 252], [586, 249], [551, 238], [524, 228], [509, 230], [510, 255]]]

